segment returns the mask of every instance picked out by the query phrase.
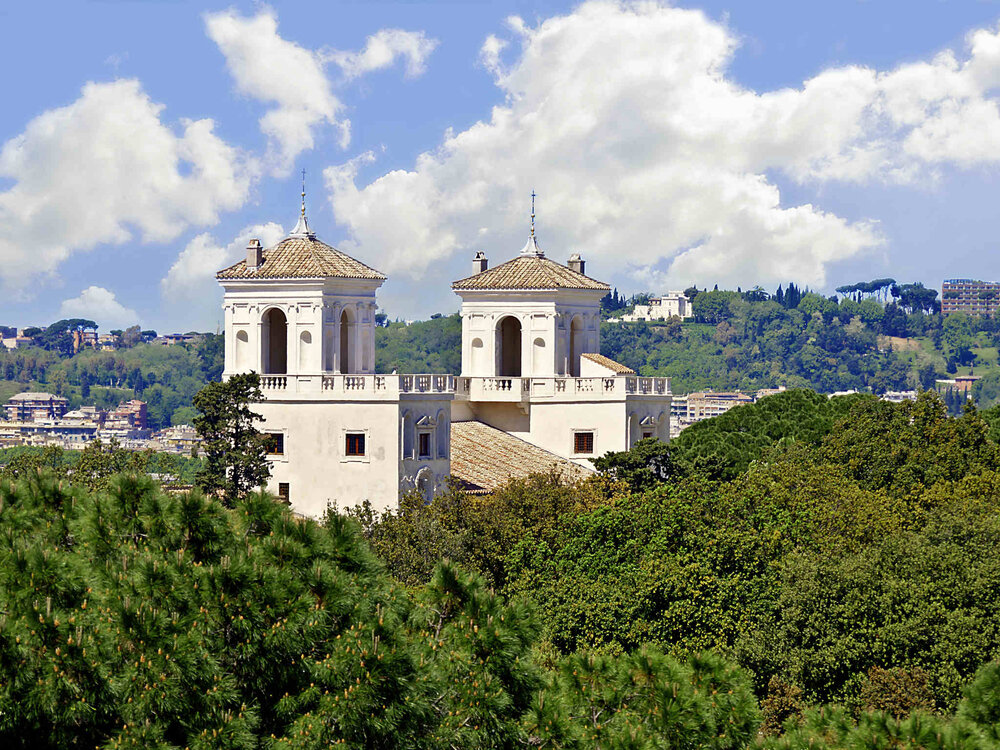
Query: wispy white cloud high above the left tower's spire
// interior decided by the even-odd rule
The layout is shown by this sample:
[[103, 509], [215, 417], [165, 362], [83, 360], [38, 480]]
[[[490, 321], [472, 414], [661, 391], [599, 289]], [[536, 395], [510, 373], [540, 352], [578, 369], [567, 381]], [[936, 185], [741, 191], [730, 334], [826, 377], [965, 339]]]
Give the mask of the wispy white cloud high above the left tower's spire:
[[287, 174], [295, 157], [315, 145], [323, 124], [339, 133], [341, 148], [351, 139], [351, 122], [333, 92], [326, 64], [339, 65], [345, 79], [406, 61], [408, 75], [423, 72], [437, 42], [423, 32], [383, 29], [368, 37], [361, 52], [306, 49], [278, 34], [278, 18], [270, 8], [246, 17], [235, 10], [205, 14], [205, 29], [226, 59], [237, 90], [273, 104], [260, 120], [269, 141], [269, 168]]

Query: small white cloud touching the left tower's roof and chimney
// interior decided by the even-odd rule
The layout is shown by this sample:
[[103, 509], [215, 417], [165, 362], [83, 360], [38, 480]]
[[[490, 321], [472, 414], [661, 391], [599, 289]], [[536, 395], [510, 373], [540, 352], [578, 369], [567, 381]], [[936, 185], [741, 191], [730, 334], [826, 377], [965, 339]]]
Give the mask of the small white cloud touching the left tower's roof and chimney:
[[181, 250], [160, 281], [163, 296], [171, 302], [199, 303], [208, 299], [217, 308], [216, 272], [242, 258], [252, 238], [259, 239], [264, 247], [271, 247], [284, 236], [281, 225], [274, 222], [246, 227], [228, 245], [221, 245], [207, 232], [199, 234]]

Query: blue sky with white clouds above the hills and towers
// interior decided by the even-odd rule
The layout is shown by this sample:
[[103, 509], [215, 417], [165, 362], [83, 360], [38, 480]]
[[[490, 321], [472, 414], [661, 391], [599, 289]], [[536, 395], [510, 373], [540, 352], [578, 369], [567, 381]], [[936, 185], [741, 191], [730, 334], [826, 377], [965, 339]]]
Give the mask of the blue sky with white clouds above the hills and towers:
[[[476, 250], [625, 292], [1000, 278], [1000, 3], [0, 7], [0, 324], [214, 330], [294, 222], [457, 308]], [[348, 125], [349, 123], [349, 125]], [[280, 225], [280, 226], [278, 226]]]

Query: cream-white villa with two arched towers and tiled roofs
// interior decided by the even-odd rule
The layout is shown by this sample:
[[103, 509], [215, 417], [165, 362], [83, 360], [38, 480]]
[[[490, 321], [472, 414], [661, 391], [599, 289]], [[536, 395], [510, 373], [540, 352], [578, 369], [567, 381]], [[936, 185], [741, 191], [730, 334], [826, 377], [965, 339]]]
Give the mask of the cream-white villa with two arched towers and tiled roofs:
[[473, 492], [669, 439], [666, 378], [599, 354], [608, 286], [584, 261], [545, 257], [532, 226], [521, 253], [452, 288], [462, 299], [462, 374], [375, 373], [376, 291], [385, 276], [321, 242], [303, 202], [292, 233], [220, 271], [224, 377], [261, 374], [268, 489], [305, 515], [369, 501], [395, 508], [457, 483]]

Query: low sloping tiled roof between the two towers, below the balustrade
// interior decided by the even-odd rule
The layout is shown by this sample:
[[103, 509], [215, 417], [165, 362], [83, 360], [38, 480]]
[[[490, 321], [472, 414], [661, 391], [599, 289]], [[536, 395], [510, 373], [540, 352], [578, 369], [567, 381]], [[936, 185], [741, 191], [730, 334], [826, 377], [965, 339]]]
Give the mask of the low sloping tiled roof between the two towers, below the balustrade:
[[488, 424], [451, 424], [451, 475], [467, 492], [492, 492], [511, 479], [552, 468], [570, 481], [594, 473]]

